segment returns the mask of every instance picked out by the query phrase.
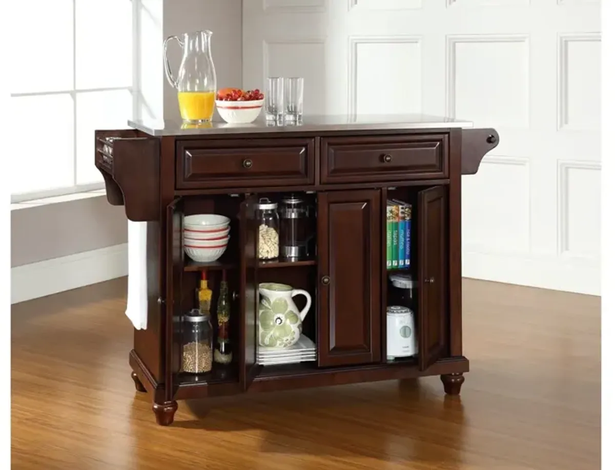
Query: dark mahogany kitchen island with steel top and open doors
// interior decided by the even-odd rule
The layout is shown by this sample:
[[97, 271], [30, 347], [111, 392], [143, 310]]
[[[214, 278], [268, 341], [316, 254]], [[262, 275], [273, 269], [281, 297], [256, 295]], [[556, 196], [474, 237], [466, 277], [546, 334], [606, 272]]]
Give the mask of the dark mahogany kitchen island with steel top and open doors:
[[[146, 328], [129, 354], [138, 391], [160, 425], [177, 401], [257, 391], [440, 375], [459, 394], [469, 370], [462, 354], [461, 175], [476, 173], [498, 145], [493, 129], [408, 116], [306, 116], [299, 124], [129, 121], [95, 133], [95, 164], [109, 203], [146, 227]], [[315, 208], [308, 259], [258, 259], [256, 206], [300, 194]], [[412, 207], [418, 354], [387, 359], [387, 201]], [[231, 219], [228, 248], [213, 262], [185, 256], [183, 216]], [[230, 296], [230, 364], [205, 374], [181, 367], [181, 318], [197, 307], [201, 272], [215, 299], [223, 273]], [[303, 334], [315, 360], [258, 362], [258, 284], [283, 282], [311, 293]], [[145, 284], [144, 284], [145, 285]]]

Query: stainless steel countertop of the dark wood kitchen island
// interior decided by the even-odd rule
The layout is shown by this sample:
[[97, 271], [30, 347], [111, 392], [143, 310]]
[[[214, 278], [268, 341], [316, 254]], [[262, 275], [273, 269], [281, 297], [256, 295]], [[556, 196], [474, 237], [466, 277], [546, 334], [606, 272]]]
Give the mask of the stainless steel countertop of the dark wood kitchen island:
[[473, 123], [450, 117], [427, 116], [426, 114], [381, 115], [381, 116], [304, 116], [300, 124], [267, 122], [261, 114], [251, 124], [182, 124], [172, 120], [148, 121], [129, 119], [132, 128], [153, 136], [224, 135], [271, 132], [319, 132], [352, 130], [411, 130], [469, 128]]

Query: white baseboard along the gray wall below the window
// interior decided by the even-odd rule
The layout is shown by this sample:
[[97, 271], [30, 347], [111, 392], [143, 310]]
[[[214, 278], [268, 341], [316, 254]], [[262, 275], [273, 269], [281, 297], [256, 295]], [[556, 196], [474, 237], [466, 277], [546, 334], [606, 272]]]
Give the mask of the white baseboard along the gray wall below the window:
[[10, 303], [128, 275], [128, 244], [84, 251], [10, 270]]

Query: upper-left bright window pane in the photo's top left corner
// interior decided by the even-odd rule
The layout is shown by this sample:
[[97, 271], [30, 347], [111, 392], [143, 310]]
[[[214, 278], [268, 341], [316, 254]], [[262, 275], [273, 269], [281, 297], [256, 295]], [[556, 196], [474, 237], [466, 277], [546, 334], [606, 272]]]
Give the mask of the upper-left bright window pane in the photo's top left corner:
[[[128, 1], [128, 0], [127, 0]], [[11, 2], [9, 54], [11, 93], [73, 88], [73, 1]]]

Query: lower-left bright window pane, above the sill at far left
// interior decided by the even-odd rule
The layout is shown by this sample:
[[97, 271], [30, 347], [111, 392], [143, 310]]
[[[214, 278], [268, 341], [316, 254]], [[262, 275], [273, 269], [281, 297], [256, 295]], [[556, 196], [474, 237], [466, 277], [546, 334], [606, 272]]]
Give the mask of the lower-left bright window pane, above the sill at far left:
[[73, 186], [73, 99], [70, 95], [10, 98], [11, 139], [20, 152], [10, 159], [10, 193]]

